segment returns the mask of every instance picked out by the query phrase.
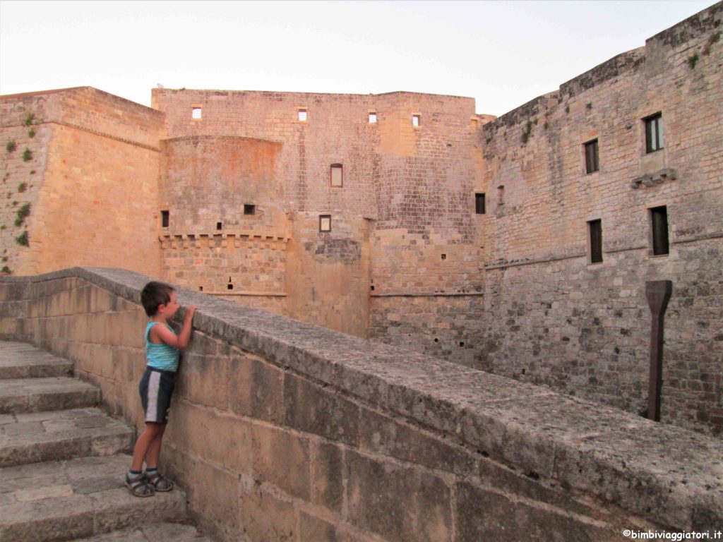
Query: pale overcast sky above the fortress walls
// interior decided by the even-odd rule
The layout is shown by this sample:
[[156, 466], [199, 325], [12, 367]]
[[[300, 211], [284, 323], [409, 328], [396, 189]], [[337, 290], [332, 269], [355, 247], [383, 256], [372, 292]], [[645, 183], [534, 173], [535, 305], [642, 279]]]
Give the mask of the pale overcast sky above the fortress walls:
[[501, 115], [713, 4], [0, 0], [0, 94], [408, 90]]

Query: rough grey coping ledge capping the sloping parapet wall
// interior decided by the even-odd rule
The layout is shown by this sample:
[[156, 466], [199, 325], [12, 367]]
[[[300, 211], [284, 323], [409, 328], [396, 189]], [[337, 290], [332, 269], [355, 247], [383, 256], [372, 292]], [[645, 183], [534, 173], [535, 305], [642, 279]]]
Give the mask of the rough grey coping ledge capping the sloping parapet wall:
[[[124, 270], [75, 267], [1, 278], [0, 284], [67, 278], [136, 304], [150, 280]], [[500, 463], [555, 478], [671, 528], [723, 523], [719, 439], [203, 293], [179, 294], [184, 304], [199, 307], [195, 329], [448, 434]]]

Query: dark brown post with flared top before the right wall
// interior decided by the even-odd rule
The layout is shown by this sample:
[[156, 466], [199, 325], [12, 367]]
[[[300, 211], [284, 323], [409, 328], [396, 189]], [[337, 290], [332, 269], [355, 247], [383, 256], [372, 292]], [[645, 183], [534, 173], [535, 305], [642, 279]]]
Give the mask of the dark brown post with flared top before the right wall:
[[648, 418], [654, 421], [660, 421], [660, 390], [663, 385], [663, 320], [672, 291], [672, 280], [650, 280], [645, 283], [645, 295], [648, 298], [652, 316]]

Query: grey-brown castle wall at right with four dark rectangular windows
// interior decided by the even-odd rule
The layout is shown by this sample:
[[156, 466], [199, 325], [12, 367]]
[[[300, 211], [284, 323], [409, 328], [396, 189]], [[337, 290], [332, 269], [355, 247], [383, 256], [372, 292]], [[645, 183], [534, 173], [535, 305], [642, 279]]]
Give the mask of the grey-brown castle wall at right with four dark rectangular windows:
[[[480, 368], [644, 410], [645, 283], [672, 280], [662, 417], [723, 431], [722, 13], [717, 4], [484, 126]], [[656, 113], [664, 148], [647, 153], [644, 119]], [[592, 139], [599, 171], [586, 173]], [[663, 205], [669, 254], [654, 256], [649, 213]], [[591, 263], [589, 220], [602, 220], [602, 263]]]

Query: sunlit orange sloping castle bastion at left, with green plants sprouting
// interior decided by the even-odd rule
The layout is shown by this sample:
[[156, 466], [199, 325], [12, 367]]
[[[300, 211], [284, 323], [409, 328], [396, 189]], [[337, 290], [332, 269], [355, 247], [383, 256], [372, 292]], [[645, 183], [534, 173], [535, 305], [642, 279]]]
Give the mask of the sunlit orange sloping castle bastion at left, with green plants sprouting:
[[[92, 264], [159, 274], [154, 226], [161, 115], [89, 87], [9, 95], [1, 103], [6, 137], [20, 142], [30, 128], [36, 132], [22, 139], [35, 149], [32, 160], [18, 161], [20, 147], [4, 157], [6, 184], [28, 179], [27, 195], [4, 211], [4, 220], [11, 220], [21, 199], [31, 206], [25, 220], [29, 246], [17, 249], [6, 238], [12, 233], [4, 234], [17, 261], [12, 272]], [[24, 126], [31, 113], [31, 126]]]

